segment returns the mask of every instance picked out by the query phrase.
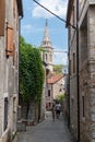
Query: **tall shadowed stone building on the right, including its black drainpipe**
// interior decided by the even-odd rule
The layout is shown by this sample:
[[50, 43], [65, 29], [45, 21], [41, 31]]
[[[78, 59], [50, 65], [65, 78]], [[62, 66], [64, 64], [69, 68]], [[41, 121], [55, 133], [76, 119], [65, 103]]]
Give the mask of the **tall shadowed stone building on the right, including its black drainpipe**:
[[95, 142], [95, 0], [69, 0], [70, 128]]

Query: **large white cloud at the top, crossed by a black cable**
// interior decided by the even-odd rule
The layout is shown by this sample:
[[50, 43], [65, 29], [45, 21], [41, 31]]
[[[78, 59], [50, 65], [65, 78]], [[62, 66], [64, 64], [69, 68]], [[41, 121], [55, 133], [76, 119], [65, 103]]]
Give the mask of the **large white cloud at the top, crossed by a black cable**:
[[[67, 13], [67, 2], [68, 0], [39, 0], [38, 2], [46, 7], [48, 10], [54, 12], [55, 14], [64, 17]], [[35, 5], [33, 10], [33, 16], [35, 17], [52, 17], [54, 15], [49, 14], [46, 10], [44, 10], [39, 5]]]

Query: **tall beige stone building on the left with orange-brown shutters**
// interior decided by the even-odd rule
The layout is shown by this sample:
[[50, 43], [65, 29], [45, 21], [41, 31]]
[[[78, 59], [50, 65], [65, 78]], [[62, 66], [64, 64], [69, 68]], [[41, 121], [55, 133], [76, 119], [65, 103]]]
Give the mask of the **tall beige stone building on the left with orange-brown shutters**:
[[22, 0], [0, 0], [0, 142], [16, 132]]

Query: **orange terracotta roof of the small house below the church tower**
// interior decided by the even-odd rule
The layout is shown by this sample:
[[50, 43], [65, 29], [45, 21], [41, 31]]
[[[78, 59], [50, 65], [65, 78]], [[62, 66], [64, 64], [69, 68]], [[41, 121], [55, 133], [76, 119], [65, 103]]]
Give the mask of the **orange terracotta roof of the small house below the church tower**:
[[47, 83], [48, 84], [54, 84], [54, 83], [58, 82], [60, 79], [62, 79], [62, 78], [63, 78], [63, 74], [51, 74], [51, 76], [49, 76], [47, 79]]

